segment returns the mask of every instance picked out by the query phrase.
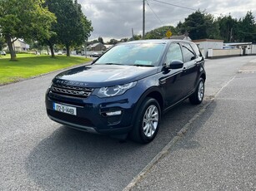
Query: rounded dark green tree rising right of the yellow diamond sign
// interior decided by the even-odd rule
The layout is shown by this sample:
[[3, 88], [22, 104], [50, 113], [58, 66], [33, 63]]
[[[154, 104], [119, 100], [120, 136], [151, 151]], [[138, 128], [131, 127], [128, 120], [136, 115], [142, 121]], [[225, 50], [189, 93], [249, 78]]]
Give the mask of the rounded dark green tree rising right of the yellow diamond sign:
[[185, 18], [185, 22], [178, 23], [178, 32], [189, 33], [191, 39], [218, 38], [218, 22], [214, 21], [211, 14], [196, 11]]

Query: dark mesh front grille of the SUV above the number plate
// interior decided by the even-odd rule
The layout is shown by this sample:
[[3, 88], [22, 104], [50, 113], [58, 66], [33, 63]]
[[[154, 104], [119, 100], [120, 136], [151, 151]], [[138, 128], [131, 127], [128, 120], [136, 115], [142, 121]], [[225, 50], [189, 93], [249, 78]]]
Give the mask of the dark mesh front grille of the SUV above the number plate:
[[51, 91], [55, 94], [65, 96], [88, 98], [93, 92], [93, 88], [53, 84]]

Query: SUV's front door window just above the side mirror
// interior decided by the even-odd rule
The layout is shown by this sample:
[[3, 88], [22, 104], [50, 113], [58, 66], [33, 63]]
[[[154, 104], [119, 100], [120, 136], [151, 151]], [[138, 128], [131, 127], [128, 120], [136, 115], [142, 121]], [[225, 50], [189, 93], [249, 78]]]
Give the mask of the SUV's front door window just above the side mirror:
[[165, 63], [169, 64], [173, 60], [183, 61], [183, 54], [178, 43], [173, 43], [170, 45]]

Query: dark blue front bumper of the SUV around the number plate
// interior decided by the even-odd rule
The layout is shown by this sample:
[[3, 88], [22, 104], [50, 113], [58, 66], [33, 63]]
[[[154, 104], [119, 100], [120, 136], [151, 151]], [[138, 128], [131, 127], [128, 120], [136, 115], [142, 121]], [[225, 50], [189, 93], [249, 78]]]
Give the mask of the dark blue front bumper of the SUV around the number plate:
[[[50, 119], [78, 130], [104, 135], [121, 135], [133, 128], [134, 105], [136, 105], [133, 96], [101, 99], [92, 95], [87, 99], [80, 99], [48, 91], [45, 101]], [[77, 115], [53, 110], [53, 103], [75, 107]]]

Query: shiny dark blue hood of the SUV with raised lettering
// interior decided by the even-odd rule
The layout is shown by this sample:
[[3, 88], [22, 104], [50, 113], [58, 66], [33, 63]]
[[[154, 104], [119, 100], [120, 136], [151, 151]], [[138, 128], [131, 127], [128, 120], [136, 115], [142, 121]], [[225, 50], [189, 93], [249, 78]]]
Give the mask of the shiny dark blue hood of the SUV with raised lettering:
[[158, 67], [90, 65], [64, 71], [53, 82], [71, 86], [117, 86], [152, 76]]

